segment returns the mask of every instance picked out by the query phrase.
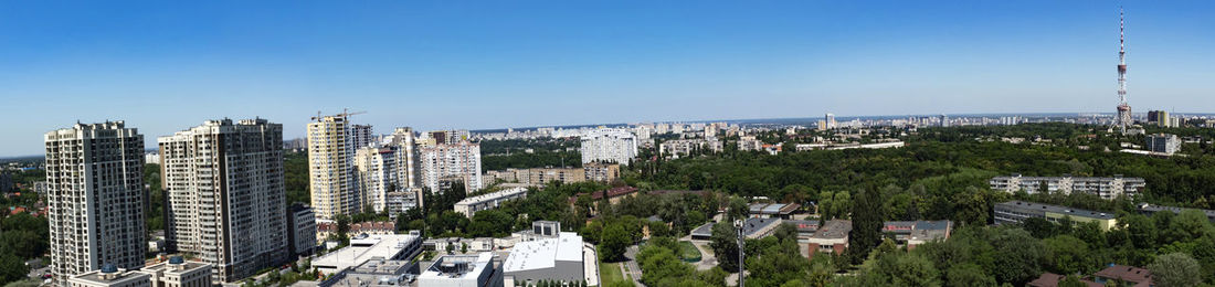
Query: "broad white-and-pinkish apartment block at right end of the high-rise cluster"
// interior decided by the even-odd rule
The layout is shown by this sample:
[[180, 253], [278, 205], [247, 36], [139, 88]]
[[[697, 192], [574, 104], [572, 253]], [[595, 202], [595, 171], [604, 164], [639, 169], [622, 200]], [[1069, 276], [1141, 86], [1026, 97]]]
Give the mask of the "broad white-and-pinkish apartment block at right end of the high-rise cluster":
[[481, 145], [468, 141], [439, 144], [422, 147], [422, 185], [439, 191], [443, 178], [460, 178], [464, 190], [471, 192], [481, 186]]

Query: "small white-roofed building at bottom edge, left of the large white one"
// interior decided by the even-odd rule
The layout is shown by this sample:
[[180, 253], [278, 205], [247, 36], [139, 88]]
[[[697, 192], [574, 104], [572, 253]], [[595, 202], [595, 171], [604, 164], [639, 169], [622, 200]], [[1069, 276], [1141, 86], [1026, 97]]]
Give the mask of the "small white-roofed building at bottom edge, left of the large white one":
[[443, 255], [418, 275], [418, 286], [426, 287], [502, 287], [502, 266], [493, 253]]

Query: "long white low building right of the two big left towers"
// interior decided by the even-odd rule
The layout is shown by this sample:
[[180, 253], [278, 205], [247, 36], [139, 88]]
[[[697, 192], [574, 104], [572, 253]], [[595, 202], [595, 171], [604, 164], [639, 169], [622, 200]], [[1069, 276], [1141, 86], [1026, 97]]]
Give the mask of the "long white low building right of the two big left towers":
[[422, 253], [422, 237], [408, 235], [362, 235], [350, 238], [350, 246], [312, 260], [312, 266], [330, 275], [362, 265], [367, 260], [411, 260]]

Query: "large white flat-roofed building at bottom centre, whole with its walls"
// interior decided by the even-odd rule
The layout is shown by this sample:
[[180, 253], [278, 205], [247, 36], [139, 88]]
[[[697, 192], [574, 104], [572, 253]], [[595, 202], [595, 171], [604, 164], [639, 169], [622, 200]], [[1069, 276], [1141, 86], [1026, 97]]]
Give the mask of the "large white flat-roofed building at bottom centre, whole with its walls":
[[515, 283], [582, 282], [586, 270], [582, 252], [582, 236], [575, 232], [519, 242], [510, 248], [503, 274]]

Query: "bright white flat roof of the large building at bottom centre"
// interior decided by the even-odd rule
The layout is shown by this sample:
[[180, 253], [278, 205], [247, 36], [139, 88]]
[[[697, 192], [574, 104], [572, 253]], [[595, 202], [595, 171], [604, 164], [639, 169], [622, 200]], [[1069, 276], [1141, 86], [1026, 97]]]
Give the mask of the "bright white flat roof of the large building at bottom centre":
[[560, 232], [556, 238], [515, 243], [503, 264], [504, 272], [548, 269], [556, 261], [582, 261], [582, 236]]

